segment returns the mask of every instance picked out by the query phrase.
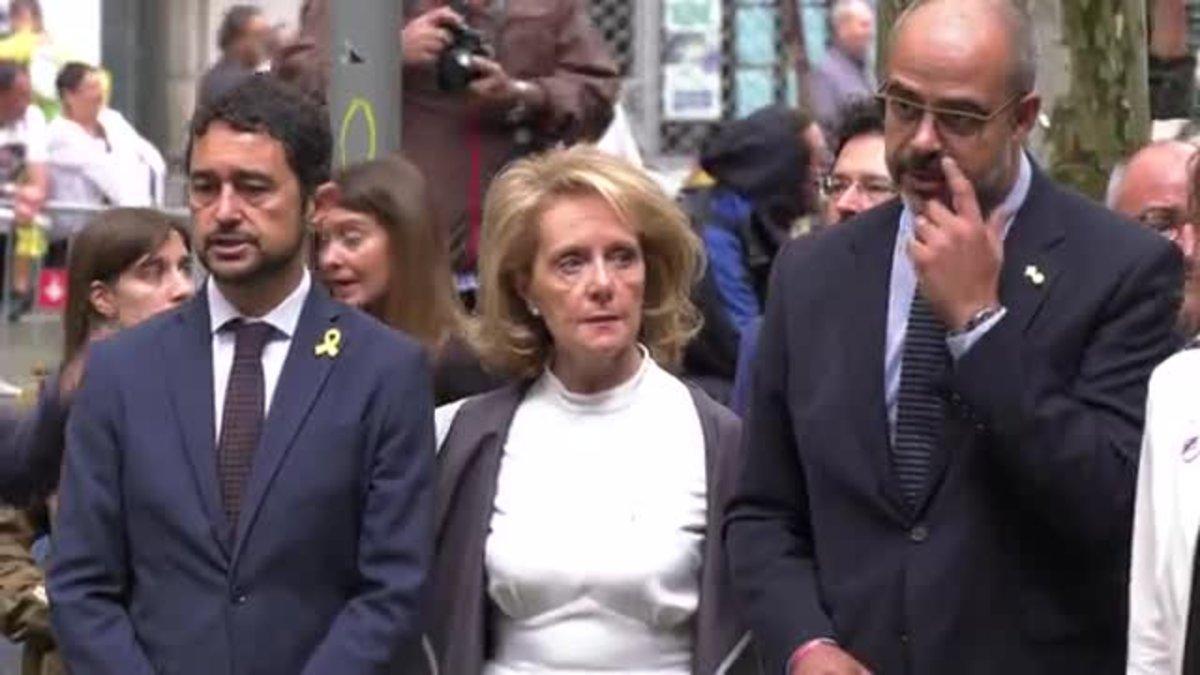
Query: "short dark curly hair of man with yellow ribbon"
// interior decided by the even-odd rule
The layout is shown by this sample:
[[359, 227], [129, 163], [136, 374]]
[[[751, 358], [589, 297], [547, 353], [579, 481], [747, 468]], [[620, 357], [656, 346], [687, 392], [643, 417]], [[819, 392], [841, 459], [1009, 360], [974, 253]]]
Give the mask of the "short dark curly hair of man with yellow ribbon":
[[192, 118], [187, 166], [192, 163], [196, 139], [217, 121], [278, 141], [306, 198], [329, 180], [334, 149], [329, 114], [324, 106], [295, 86], [268, 73], [254, 73], [211, 104], [199, 108]]

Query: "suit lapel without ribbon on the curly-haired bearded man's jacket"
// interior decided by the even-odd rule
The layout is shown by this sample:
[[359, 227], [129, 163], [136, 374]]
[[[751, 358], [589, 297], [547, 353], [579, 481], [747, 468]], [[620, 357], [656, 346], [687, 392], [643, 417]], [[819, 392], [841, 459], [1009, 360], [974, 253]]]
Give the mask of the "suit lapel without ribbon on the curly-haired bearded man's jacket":
[[227, 556], [229, 531], [216, 468], [216, 422], [212, 399], [212, 331], [208, 294], [202, 289], [163, 331], [170, 402], [184, 436], [184, 449], [200, 501], [212, 525], [212, 538]]

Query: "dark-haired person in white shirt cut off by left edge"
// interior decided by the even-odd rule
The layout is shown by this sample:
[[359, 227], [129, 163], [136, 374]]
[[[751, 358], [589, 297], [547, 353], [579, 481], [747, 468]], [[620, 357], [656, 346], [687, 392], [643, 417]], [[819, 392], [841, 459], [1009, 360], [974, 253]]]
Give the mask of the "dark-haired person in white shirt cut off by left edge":
[[[13, 294], [8, 321], [19, 319], [32, 306], [34, 268], [48, 252], [38, 217], [49, 189], [46, 161], [46, 117], [32, 103], [29, 71], [14, 61], [0, 61], [0, 193], [13, 201], [16, 228], [13, 269], [4, 270]], [[64, 256], [61, 249], [52, 257]]]

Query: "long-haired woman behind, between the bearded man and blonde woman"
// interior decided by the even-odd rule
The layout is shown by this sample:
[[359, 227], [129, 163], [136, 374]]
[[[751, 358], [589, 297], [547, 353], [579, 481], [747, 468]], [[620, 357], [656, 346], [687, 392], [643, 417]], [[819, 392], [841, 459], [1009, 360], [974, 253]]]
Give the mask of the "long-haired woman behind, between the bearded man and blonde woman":
[[445, 245], [431, 226], [428, 192], [407, 160], [342, 169], [317, 192], [317, 269], [334, 298], [421, 342], [437, 402], [499, 386], [466, 340]]

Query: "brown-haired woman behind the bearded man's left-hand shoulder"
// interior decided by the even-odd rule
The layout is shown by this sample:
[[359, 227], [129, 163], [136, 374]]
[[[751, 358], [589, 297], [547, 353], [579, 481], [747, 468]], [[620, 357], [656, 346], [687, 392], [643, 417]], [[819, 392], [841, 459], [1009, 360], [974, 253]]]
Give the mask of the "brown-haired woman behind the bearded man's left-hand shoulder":
[[22, 675], [66, 673], [49, 627], [44, 536], [61, 471], [67, 412], [88, 345], [173, 309], [194, 292], [187, 231], [148, 209], [113, 209], [97, 216], [79, 233], [67, 274], [60, 375], [43, 384], [31, 413], [37, 424], [55, 429], [36, 437], [41, 447], [14, 450], [28, 458], [24, 489], [6, 495], [14, 507], [0, 508], [0, 627], [25, 647]]

